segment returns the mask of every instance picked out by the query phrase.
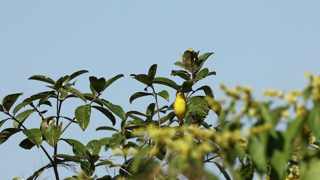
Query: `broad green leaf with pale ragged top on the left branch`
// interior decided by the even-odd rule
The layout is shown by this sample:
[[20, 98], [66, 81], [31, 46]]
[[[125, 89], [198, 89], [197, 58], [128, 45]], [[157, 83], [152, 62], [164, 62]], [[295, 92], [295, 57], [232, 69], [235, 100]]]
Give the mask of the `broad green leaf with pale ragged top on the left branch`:
[[42, 120], [40, 124], [40, 129], [42, 130], [42, 134], [45, 137], [45, 141], [54, 147], [59, 140], [61, 135], [61, 124], [54, 125], [54, 117], [48, 117]]

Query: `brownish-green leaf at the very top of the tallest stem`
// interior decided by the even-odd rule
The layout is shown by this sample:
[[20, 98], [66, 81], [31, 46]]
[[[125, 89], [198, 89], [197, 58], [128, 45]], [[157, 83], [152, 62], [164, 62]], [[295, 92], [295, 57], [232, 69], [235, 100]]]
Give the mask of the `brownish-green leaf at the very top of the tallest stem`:
[[186, 50], [183, 53], [182, 63], [186, 67], [186, 69], [192, 74], [197, 72], [198, 69], [198, 57], [197, 53], [194, 51]]

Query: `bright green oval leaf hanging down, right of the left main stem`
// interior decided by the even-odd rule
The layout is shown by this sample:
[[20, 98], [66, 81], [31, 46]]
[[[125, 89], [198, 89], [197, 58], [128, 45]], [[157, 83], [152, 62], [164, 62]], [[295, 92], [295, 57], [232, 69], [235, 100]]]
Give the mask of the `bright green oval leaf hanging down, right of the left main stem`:
[[74, 111], [75, 118], [78, 121], [78, 124], [83, 131], [89, 124], [90, 114], [91, 114], [90, 104], [78, 106]]

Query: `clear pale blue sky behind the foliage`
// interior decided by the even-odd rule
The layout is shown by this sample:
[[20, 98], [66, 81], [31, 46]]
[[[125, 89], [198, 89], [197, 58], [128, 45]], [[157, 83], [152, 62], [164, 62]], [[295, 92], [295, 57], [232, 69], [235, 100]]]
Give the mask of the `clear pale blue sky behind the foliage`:
[[[86, 69], [89, 73], [78, 76], [75, 86], [81, 92], [90, 91], [91, 75], [108, 79], [123, 73], [124, 77], [108, 87], [102, 97], [120, 104], [124, 111], [144, 111], [152, 99], [145, 97], [129, 103], [130, 95], [144, 88], [129, 74], [147, 73], [156, 63], [156, 76], [170, 78], [171, 70], [179, 69], [173, 63], [189, 47], [200, 50], [200, 54], [214, 52], [204, 66], [216, 71], [216, 76], [205, 80], [216, 98], [222, 97], [217, 88], [219, 82], [228, 86], [251, 85], [256, 97], [260, 97], [263, 88], [300, 89], [306, 84], [304, 72], [320, 70], [319, 9], [318, 0], [1, 0], [0, 98], [23, 91], [20, 102], [31, 94], [49, 90], [45, 83], [27, 80], [31, 75], [56, 80]], [[179, 77], [172, 78], [182, 83]], [[163, 86], [157, 89], [160, 91]], [[167, 90], [170, 102], [160, 101], [162, 105], [174, 99], [175, 91]], [[63, 113], [72, 116], [78, 105], [83, 102], [70, 103]], [[0, 113], [0, 120], [4, 118]], [[38, 127], [39, 120], [32, 114], [25, 125]], [[119, 121], [117, 118], [116, 128]], [[111, 123], [92, 110], [84, 133], [74, 125], [62, 137], [86, 144], [90, 139], [109, 135], [95, 131], [102, 125]], [[6, 122], [0, 130], [9, 126], [11, 122]], [[48, 163], [40, 149], [18, 146], [24, 138], [24, 134], [17, 133], [0, 145], [1, 179], [27, 178]], [[43, 144], [52, 154], [53, 150]], [[63, 147], [60, 153], [72, 154], [69, 145], [59, 144]], [[102, 150], [101, 155], [108, 153]], [[96, 173], [102, 176], [106, 170]], [[60, 176], [73, 174], [62, 170]], [[53, 179], [53, 171], [42, 177]]]

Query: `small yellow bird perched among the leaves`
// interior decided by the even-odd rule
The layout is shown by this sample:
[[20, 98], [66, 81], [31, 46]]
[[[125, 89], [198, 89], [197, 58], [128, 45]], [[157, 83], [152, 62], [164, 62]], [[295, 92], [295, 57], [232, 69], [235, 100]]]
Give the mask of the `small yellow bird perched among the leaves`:
[[183, 124], [183, 119], [186, 113], [187, 105], [184, 99], [184, 94], [182, 89], [176, 91], [175, 100], [173, 102], [173, 112], [175, 116], [178, 118], [179, 125]]

